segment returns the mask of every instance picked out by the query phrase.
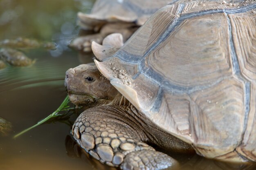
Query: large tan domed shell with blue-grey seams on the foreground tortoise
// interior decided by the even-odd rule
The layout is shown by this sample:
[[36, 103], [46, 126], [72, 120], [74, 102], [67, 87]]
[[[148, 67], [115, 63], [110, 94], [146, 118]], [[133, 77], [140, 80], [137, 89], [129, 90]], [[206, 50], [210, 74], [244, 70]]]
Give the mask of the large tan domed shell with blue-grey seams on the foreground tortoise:
[[157, 11], [101, 73], [198, 154], [256, 161], [256, 2], [193, 1]]

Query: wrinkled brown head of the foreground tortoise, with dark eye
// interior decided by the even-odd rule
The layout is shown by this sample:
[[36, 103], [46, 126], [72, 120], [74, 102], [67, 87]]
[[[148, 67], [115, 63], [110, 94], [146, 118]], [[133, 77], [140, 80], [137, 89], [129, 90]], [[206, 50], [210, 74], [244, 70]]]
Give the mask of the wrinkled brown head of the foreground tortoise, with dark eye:
[[70, 101], [83, 106], [108, 103], [118, 93], [98, 68], [90, 64], [81, 64], [67, 70], [65, 87]]

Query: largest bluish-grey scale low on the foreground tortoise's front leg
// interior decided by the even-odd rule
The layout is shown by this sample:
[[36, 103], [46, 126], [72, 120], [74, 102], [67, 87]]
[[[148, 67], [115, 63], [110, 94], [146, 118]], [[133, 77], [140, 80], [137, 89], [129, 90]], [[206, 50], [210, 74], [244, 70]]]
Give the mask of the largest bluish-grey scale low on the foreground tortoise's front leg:
[[99, 157], [103, 159], [103, 161], [111, 162], [113, 160], [114, 153], [112, 148], [110, 148], [108, 145], [100, 145], [97, 147], [97, 153]]

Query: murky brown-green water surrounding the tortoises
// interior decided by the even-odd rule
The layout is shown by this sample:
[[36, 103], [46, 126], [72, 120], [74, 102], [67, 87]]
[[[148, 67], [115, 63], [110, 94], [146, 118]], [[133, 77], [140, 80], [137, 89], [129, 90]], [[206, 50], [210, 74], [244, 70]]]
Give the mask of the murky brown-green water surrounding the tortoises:
[[[70, 126], [43, 124], [17, 139], [13, 135], [56, 110], [66, 96], [65, 71], [92, 56], [78, 57], [67, 43], [79, 31], [76, 12], [88, 11], [86, 0], [0, 0], [0, 40], [36, 38], [54, 41], [56, 51], [25, 51], [36, 63], [0, 70], [0, 117], [13, 124], [8, 136], [0, 136], [0, 170], [103, 170], [84, 154], [70, 137]], [[74, 119], [74, 117], [73, 117]], [[254, 170], [254, 165], [234, 165], [197, 155], [174, 155], [182, 170]]]

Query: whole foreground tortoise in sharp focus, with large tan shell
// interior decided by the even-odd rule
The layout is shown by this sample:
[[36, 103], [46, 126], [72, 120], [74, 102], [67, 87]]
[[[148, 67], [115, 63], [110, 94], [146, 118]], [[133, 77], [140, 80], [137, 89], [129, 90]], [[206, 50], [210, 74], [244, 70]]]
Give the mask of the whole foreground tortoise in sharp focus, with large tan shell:
[[76, 142], [125, 170], [177, 165], [148, 144], [255, 162], [255, 9], [254, 0], [167, 5], [123, 46], [120, 34], [92, 43], [97, 68], [65, 78], [70, 100], [91, 106], [72, 127]]

